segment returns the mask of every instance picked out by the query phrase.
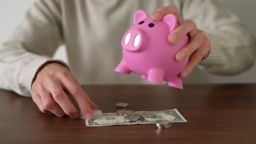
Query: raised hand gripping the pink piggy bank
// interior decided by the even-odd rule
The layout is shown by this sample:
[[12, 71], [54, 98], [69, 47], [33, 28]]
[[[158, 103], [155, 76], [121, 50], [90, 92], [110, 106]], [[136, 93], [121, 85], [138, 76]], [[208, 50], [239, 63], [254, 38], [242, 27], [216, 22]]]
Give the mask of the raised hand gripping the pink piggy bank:
[[175, 5], [159, 8], [151, 17], [154, 21], [160, 21], [168, 14], [176, 15], [179, 24], [179, 26], [168, 35], [168, 41], [171, 44], [177, 44], [186, 34], [188, 34], [190, 39], [190, 43], [176, 54], [176, 61], [184, 61], [190, 57], [187, 66], [180, 74], [184, 79], [193, 71], [202, 59], [208, 56], [211, 49], [211, 40], [206, 37], [204, 31], [196, 28], [196, 23], [194, 21], [184, 20]]

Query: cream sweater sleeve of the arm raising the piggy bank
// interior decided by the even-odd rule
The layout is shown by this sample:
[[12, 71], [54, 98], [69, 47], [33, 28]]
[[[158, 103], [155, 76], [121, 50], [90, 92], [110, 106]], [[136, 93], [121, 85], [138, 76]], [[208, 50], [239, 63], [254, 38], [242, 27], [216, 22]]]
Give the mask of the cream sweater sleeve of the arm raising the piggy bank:
[[215, 0], [184, 0], [184, 19], [211, 39], [211, 52], [199, 68], [217, 75], [234, 75], [251, 68], [256, 55], [255, 39], [243, 23]]

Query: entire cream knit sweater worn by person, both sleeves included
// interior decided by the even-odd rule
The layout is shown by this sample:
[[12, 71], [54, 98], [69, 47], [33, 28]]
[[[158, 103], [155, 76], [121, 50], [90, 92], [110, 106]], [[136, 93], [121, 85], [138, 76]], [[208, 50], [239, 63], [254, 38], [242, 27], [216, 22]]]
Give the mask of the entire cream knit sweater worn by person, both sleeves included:
[[[80, 83], [146, 83], [138, 75], [114, 72], [122, 58], [123, 34], [138, 9], [152, 14], [174, 4], [212, 41], [200, 63], [213, 74], [237, 74], [251, 67], [255, 41], [248, 29], [215, 0], [40, 0], [0, 45], [0, 88], [30, 96], [37, 69], [66, 44], [69, 69]], [[60, 62], [60, 61], [59, 61]]]

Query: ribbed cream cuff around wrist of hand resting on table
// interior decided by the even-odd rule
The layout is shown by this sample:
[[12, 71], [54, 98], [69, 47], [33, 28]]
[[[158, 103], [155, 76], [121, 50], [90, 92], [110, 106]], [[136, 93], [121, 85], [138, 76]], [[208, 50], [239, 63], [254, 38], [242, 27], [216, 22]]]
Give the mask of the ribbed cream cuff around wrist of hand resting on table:
[[34, 78], [36, 77], [37, 71], [48, 63], [60, 63], [68, 68], [68, 65], [59, 59], [37, 57], [32, 61], [26, 63], [20, 71], [19, 83], [22, 86], [22, 88], [26, 89], [27, 91], [30, 91], [31, 93], [31, 85]]

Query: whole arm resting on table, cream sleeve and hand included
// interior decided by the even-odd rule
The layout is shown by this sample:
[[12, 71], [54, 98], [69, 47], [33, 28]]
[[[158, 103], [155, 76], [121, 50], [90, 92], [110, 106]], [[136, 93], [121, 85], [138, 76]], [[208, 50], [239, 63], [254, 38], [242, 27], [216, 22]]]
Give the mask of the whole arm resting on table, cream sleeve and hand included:
[[[98, 109], [83, 91], [65, 63], [53, 60], [62, 44], [59, 0], [37, 0], [25, 20], [0, 46], [0, 88], [30, 95], [43, 113], [78, 118], [80, 112], [91, 120], [91, 109]], [[72, 104], [68, 94], [78, 104]]]

